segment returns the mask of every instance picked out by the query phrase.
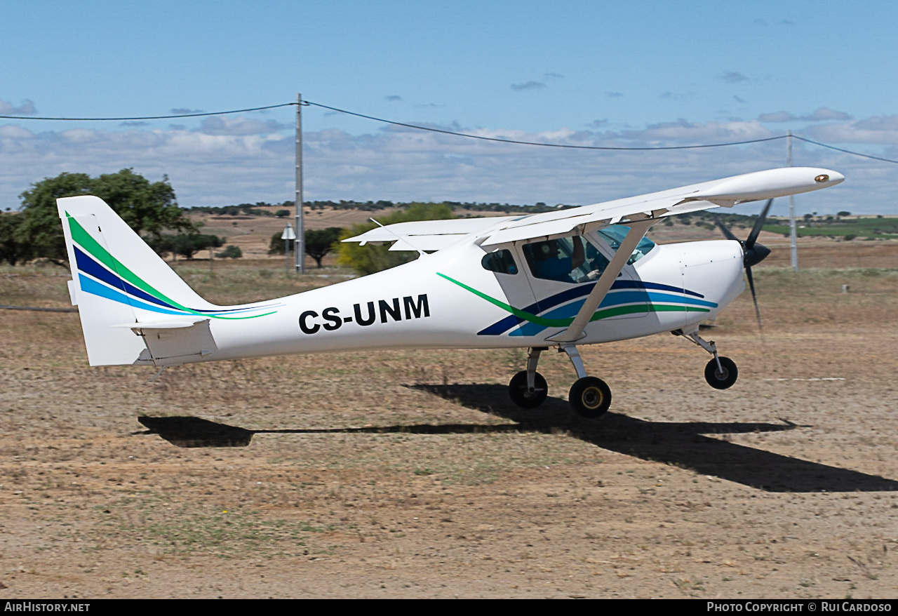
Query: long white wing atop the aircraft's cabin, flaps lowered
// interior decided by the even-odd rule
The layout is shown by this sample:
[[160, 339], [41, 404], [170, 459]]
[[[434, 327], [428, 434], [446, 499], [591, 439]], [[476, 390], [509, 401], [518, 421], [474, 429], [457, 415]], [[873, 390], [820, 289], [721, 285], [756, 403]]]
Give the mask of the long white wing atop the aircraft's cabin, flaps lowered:
[[712, 207], [733, 207], [841, 183], [839, 172], [816, 167], [784, 167], [744, 173], [722, 180], [691, 184], [629, 197], [529, 216], [462, 218], [388, 224], [344, 242], [396, 242], [392, 251], [439, 251], [466, 235], [482, 238], [480, 245], [579, 235], [621, 222], [657, 220]]

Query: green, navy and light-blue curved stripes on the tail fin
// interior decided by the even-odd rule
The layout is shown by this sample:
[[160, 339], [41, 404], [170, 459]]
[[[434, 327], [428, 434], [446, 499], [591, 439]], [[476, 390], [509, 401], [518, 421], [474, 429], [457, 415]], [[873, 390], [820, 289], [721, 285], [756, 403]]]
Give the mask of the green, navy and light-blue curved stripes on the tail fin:
[[[221, 310], [195, 310], [193, 308], [188, 308], [165, 296], [158, 289], [148, 285], [142, 278], [136, 276], [134, 272], [128, 269], [121, 261], [113, 257], [109, 251], [100, 245], [99, 242], [94, 240], [91, 234], [87, 233], [87, 231], [84, 230], [84, 227], [81, 226], [81, 224], [79, 224], [68, 212], [66, 212], [66, 219], [72, 233], [72, 240], [80, 245], [80, 249], [79, 246], [74, 246], [73, 248], [75, 249], [75, 261], [79, 270], [79, 284], [85, 293], [99, 295], [114, 302], [119, 302], [120, 304], [133, 305], [135, 308], [141, 308], [151, 312], [177, 315], [196, 314], [211, 319], [225, 320], [255, 319], [268, 314], [274, 314], [277, 311], [272, 309], [283, 305], [263, 304], [260, 306]], [[88, 278], [84, 276], [84, 274], [87, 274], [92, 278]], [[100, 282], [97, 282], [98, 280], [109, 286], [101, 285]], [[144, 300], [145, 302], [150, 302], [155, 305], [145, 304], [138, 300]], [[246, 316], [232, 316], [234, 313], [258, 311], [269, 312], [249, 314]], [[227, 312], [228, 315], [221, 314], [221, 312]]]

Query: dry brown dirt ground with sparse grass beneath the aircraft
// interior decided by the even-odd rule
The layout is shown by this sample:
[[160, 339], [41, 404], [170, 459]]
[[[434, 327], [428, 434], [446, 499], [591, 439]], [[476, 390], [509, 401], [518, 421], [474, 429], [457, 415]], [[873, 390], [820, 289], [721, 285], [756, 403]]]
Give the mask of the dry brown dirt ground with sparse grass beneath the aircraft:
[[[193, 276], [221, 300], [229, 268]], [[67, 277], [4, 268], [0, 304], [66, 306]], [[0, 598], [894, 597], [898, 271], [756, 280], [765, 342], [747, 295], [706, 336], [732, 389], [674, 336], [585, 348], [614, 397], [597, 421], [555, 354], [528, 411], [521, 350], [147, 383], [88, 367], [75, 313], [0, 311]]]

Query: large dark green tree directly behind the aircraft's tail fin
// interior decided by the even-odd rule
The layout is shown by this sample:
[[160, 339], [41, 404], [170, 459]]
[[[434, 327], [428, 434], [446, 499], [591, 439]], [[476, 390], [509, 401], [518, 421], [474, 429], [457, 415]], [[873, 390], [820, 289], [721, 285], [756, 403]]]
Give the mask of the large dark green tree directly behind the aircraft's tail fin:
[[86, 173], [61, 173], [31, 185], [22, 198], [22, 240], [33, 251], [31, 258], [45, 258], [58, 264], [67, 260], [62, 224], [57, 214], [57, 198], [96, 195], [128, 223], [136, 233], [162, 237], [164, 229], [196, 232], [178, 207], [168, 176], [150, 182], [131, 169], [92, 178]]

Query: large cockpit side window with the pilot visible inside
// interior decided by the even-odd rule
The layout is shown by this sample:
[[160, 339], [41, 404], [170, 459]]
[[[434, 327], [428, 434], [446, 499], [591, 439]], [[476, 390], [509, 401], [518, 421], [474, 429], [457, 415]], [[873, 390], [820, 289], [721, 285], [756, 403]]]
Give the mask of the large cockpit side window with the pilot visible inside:
[[571, 283], [598, 279], [609, 263], [579, 235], [524, 244], [524, 259], [533, 277]]

